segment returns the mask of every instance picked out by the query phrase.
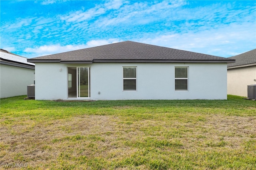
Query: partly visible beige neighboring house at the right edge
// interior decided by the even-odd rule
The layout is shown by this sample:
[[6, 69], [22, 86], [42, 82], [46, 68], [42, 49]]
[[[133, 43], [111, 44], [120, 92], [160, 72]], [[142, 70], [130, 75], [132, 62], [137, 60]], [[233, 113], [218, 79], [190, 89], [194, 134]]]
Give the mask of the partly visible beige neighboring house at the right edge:
[[247, 85], [256, 84], [256, 49], [229, 59], [236, 62], [228, 64], [228, 94], [247, 97]]

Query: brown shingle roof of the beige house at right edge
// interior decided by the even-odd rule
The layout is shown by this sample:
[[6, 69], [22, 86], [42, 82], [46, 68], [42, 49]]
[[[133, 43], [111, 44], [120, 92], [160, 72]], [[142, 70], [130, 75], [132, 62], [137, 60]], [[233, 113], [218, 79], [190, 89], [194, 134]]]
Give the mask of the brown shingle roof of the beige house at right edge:
[[256, 65], [256, 49], [228, 58], [236, 60], [228, 64], [228, 69]]

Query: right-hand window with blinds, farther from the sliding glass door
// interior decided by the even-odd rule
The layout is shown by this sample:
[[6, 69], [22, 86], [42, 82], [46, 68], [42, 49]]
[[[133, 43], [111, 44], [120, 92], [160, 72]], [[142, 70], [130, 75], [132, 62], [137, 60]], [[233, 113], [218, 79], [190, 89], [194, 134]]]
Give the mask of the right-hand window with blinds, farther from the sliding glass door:
[[188, 67], [175, 67], [175, 90], [188, 90]]

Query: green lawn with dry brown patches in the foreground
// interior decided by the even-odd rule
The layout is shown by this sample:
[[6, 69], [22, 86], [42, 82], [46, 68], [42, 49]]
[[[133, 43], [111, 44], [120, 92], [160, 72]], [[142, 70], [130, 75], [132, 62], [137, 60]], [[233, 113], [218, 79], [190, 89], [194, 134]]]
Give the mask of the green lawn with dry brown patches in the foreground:
[[256, 101], [24, 97], [0, 101], [4, 169], [256, 169]]

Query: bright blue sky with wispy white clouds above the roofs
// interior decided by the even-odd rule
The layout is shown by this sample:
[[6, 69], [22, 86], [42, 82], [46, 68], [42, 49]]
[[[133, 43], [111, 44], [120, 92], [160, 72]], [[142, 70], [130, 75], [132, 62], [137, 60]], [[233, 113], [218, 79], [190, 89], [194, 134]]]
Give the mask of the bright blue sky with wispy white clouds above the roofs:
[[135, 41], [230, 57], [256, 48], [256, 1], [1, 0], [0, 47], [38, 57]]

